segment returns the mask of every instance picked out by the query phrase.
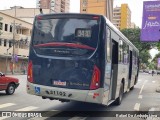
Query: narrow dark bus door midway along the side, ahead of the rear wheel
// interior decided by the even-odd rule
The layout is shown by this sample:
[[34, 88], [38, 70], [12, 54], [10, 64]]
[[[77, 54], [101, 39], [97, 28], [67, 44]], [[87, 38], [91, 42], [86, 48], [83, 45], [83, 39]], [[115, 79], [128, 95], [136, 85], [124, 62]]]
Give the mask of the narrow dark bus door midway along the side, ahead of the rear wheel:
[[131, 87], [131, 80], [132, 80], [132, 51], [129, 51], [129, 78], [128, 78], [128, 88]]

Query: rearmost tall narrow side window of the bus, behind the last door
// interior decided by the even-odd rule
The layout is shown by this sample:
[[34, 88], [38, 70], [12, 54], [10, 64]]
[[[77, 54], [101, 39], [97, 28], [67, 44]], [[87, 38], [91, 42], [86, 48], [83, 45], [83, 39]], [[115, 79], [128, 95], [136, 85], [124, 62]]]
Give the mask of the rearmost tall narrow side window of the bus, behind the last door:
[[106, 28], [106, 39], [107, 39], [107, 62], [111, 62], [111, 30]]

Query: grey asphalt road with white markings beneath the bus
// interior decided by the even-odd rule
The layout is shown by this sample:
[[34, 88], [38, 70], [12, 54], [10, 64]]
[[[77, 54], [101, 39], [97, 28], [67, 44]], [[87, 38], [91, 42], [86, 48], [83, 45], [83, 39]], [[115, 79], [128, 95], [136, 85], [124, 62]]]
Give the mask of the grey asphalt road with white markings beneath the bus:
[[[105, 120], [106, 117], [113, 119], [112, 116], [115, 116], [114, 119], [128, 120], [130, 112], [127, 111], [131, 111], [131, 113], [149, 111], [155, 107], [160, 107], [160, 93], [156, 92], [156, 88], [160, 85], [160, 75], [152, 76], [151, 74], [140, 73], [137, 85], [132, 91], [124, 94], [122, 104], [119, 106], [111, 104], [108, 107], [89, 103], [61, 103], [55, 100], [44, 100], [41, 97], [26, 93], [26, 75], [14, 75], [13, 77], [19, 78], [20, 86], [13, 95], [6, 95], [5, 92], [0, 91], [0, 111], [42, 111], [41, 114], [45, 113], [43, 118], [30, 118], [30, 120]], [[0, 118], [0, 120], [3, 119], [26, 120], [29, 118]], [[134, 118], [130, 116], [130, 119], [144, 120], [146, 118], [145, 116]]]

